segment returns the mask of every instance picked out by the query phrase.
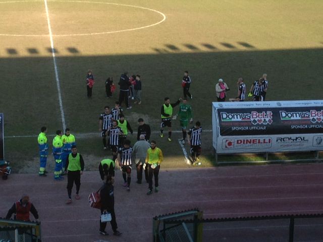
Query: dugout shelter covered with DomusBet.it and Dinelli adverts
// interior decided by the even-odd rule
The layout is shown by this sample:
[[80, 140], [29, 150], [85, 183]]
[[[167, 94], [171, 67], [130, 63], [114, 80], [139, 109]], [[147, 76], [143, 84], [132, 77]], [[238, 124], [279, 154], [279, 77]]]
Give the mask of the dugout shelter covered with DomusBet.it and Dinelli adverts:
[[213, 103], [217, 153], [323, 150], [323, 100]]

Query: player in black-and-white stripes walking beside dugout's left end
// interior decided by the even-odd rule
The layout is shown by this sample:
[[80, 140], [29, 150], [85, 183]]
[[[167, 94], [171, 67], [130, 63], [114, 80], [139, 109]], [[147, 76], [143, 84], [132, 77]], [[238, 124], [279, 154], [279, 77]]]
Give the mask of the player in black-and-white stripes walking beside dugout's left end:
[[[198, 121], [195, 123], [195, 126], [191, 128], [188, 132], [187, 141], [191, 146], [190, 151], [193, 159], [193, 165], [201, 164], [199, 162], [199, 155], [201, 154], [201, 132], [201, 123]], [[196, 163], [196, 161], [198, 163]]]

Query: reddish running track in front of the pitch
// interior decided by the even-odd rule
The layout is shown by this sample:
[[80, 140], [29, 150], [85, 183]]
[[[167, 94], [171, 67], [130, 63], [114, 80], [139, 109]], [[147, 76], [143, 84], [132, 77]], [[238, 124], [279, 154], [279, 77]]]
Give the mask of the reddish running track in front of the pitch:
[[[99, 210], [88, 206], [89, 193], [101, 186], [98, 171], [84, 172], [82, 198], [73, 200], [71, 205], [65, 204], [66, 180], [54, 181], [52, 175], [12, 174], [8, 180], [0, 181], [0, 216], [6, 216], [22, 194], [28, 194], [40, 214], [42, 241], [88, 242], [151, 241], [155, 215], [196, 207], [204, 212], [205, 218], [323, 213], [323, 164], [320, 163], [166, 170], [161, 167], [159, 193], [150, 196], [146, 195], [147, 184], [138, 185], [135, 181], [134, 170], [131, 191], [127, 192], [122, 187], [121, 173], [116, 172], [115, 209], [119, 230], [123, 232], [121, 237], [112, 235], [110, 224], [107, 232], [111, 234], [99, 235]], [[322, 225], [304, 221], [300, 228], [314, 234], [315, 226]], [[286, 221], [274, 225], [265, 221], [217, 227], [205, 224], [204, 240], [260, 241], [252, 240], [252, 232], [256, 231], [256, 235], [264, 236], [261, 241], [285, 241], [286, 226]], [[312, 240], [299, 241], [323, 241], [320, 237], [323, 236], [317, 234]]]

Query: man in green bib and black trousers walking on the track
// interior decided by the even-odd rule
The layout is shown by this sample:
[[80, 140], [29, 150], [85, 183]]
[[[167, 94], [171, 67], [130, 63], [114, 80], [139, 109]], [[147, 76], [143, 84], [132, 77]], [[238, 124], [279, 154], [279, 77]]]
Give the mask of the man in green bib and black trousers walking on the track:
[[65, 170], [67, 170], [67, 193], [69, 196], [66, 203], [71, 204], [74, 183], [76, 185], [75, 199], [80, 199], [81, 174], [83, 174], [84, 170], [84, 160], [82, 155], [77, 152], [76, 145], [72, 146], [72, 153], [67, 157]]

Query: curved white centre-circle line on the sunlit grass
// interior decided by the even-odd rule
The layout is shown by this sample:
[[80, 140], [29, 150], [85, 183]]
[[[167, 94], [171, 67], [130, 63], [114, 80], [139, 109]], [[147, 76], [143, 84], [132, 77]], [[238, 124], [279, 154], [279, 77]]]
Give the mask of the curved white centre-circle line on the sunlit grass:
[[[29, 2], [42, 2], [42, 0], [30, 0], [30, 1], [8, 1], [8, 2], [0, 2], [0, 4], [10, 4], [10, 3], [29, 3]], [[90, 36], [90, 35], [102, 35], [102, 34], [113, 34], [113, 33], [120, 33], [120, 32], [127, 32], [127, 31], [134, 31], [139, 29], [145, 29], [149, 27], [153, 27], [155, 25], [161, 24], [166, 20], [166, 15], [154, 10], [145, 7], [135, 6], [135, 5], [127, 5], [127, 4], [115, 4], [115, 3], [102, 3], [102, 2], [89, 2], [89, 1], [60, 1], [60, 0], [48, 0], [47, 2], [59, 2], [59, 3], [81, 3], [81, 4], [107, 4], [107, 5], [117, 5], [117, 6], [125, 6], [131, 8], [138, 8], [149, 10], [159, 15], [163, 16], [163, 19], [150, 25], [133, 28], [133, 29], [124, 29], [124, 30], [116, 30], [116, 31], [109, 31], [109, 32], [98, 32], [98, 33], [84, 33], [84, 34], [53, 34], [53, 37], [68, 37], [68, 36]], [[48, 37], [48, 34], [0, 34], [0, 36], [14, 36], [14, 37]]]

